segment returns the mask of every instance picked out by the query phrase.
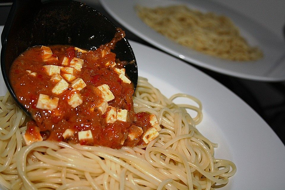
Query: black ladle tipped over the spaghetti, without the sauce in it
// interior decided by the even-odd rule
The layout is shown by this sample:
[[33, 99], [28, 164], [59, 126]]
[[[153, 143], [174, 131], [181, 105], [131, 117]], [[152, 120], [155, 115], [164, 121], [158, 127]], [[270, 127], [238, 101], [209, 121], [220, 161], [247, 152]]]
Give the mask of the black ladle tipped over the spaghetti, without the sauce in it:
[[[96, 49], [111, 41], [116, 26], [100, 12], [72, 0], [15, 0], [1, 34], [1, 70], [9, 92], [21, 105], [10, 85], [9, 70], [20, 53], [35, 45], [73, 45]], [[137, 63], [127, 39], [117, 42], [116, 57], [127, 61], [126, 74], [137, 86]], [[28, 113], [29, 114], [29, 113]]]

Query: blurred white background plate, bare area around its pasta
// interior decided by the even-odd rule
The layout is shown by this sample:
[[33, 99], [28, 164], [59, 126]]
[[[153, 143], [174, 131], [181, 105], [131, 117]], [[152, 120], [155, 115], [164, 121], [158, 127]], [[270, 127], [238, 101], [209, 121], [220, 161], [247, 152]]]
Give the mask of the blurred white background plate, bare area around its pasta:
[[[261, 24], [239, 14], [235, 10], [223, 7], [221, 4], [201, 0], [101, 0], [101, 3], [107, 12], [126, 29], [152, 45], [185, 61], [235, 77], [262, 81], [285, 80], [284, 41]], [[264, 57], [259, 61], [227, 61], [179, 45], [145, 25], [134, 10], [134, 6], [137, 4], [147, 7], [185, 4], [191, 9], [198, 9], [202, 12], [215, 12], [216, 14], [226, 15], [240, 28], [242, 36], [251, 45], [257, 45], [262, 49]]]

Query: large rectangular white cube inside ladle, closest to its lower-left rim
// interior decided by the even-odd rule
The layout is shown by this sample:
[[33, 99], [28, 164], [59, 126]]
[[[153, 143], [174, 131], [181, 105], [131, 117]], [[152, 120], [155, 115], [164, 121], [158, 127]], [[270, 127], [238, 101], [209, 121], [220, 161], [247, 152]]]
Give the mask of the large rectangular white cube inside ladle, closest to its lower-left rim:
[[50, 97], [46, 94], [39, 94], [36, 107], [42, 110], [54, 110], [58, 105], [58, 97]]

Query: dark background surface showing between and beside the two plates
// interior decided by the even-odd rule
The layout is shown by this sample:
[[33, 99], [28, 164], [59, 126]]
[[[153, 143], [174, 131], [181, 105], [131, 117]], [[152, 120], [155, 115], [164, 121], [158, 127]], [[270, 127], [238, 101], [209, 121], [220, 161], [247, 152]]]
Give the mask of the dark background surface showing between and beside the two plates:
[[[10, 0], [0, 0], [0, 25], [5, 24], [11, 5], [12, 2]], [[96, 5], [96, 7], [93, 8], [102, 12], [116, 26], [124, 29], [128, 39], [153, 47], [151, 44], [135, 36], [132, 32], [128, 31], [126, 28], [117, 23], [103, 9], [103, 7], [100, 6], [100, 4]], [[273, 129], [273, 131], [285, 144], [285, 81], [262, 82], [246, 80], [222, 75], [195, 65], [192, 66], [200, 69], [202, 72], [205, 72], [215, 80], [219, 81], [221, 84], [238, 95], [241, 99], [243, 99], [267, 122], [267, 124]]]

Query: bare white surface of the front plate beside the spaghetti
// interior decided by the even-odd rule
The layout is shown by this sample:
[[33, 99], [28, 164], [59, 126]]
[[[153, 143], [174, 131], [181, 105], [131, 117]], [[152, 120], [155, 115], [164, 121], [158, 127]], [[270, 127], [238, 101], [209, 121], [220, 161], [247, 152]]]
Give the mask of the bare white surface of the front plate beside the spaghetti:
[[[1, 31], [2, 28], [0, 28]], [[130, 41], [139, 75], [167, 97], [191, 94], [203, 105], [199, 131], [218, 143], [215, 157], [232, 160], [237, 173], [225, 189], [285, 189], [285, 147], [245, 102], [208, 75], [158, 50]], [[7, 91], [0, 76], [0, 95]]]

